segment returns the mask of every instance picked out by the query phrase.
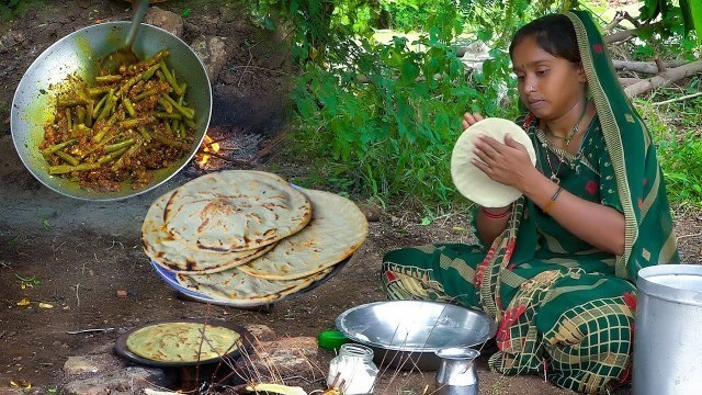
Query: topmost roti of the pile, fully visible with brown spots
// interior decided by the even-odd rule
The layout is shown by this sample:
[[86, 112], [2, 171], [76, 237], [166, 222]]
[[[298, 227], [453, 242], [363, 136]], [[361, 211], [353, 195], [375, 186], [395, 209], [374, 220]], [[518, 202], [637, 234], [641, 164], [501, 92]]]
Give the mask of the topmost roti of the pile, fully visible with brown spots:
[[310, 216], [309, 201], [282, 179], [228, 170], [176, 189], [163, 222], [169, 233], [196, 248], [241, 251], [297, 233]]

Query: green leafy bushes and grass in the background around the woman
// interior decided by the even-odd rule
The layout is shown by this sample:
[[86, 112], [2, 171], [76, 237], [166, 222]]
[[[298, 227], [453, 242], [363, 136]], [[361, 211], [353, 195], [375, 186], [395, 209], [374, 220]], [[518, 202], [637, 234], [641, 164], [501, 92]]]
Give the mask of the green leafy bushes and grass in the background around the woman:
[[[661, 1], [655, 0], [658, 9], [646, 10], [646, 18], [663, 18], [669, 26], [682, 20], [680, 8]], [[326, 183], [380, 202], [407, 196], [428, 205], [457, 198], [449, 166], [463, 112], [517, 115], [516, 80], [505, 50], [516, 29], [541, 14], [578, 7], [578, 1], [251, 0], [251, 4], [260, 25], [285, 26], [292, 33], [292, 55], [301, 75], [292, 95], [296, 117], [288, 149], [306, 162], [312, 159], [317, 174], [301, 182]], [[380, 44], [373, 29], [386, 24], [419, 36], [396, 36]], [[694, 57], [694, 43], [684, 37], [682, 27], [677, 29], [644, 30], [654, 40], [633, 48], [636, 57], [649, 60], [664, 53]], [[476, 38], [494, 49], [482, 70], [471, 71], [455, 48], [457, 41]], [[687, 49], [672, 49], [680, 46]], [[664, 128], [657, 131], [664, 140]], [[699, 147], [673, 147], [678, 140], [669, 137], [667, 144], [661, 157], [671, 190], [683, 196], [681, 191], [690, 189], [693, 192], [684, 199], [694, 198], [690, 193], [702, 179], [684, 163], [694, 162]]]

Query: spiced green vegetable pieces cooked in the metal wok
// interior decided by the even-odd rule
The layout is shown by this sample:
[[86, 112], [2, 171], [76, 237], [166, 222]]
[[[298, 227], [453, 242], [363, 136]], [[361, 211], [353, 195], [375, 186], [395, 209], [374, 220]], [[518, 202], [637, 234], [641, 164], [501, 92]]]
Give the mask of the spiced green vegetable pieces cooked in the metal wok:
[[97, 76], [92, 86], [69, 83], [39, 146], [49, 174], [88, 187], [125, 177], [137, 183], [148, 180], [147, 168], [182, 157], [192, 146], [195, 110], [184, 99], [188, 86], [166, 65], [169, 55], [160, 50], [120, 74]]

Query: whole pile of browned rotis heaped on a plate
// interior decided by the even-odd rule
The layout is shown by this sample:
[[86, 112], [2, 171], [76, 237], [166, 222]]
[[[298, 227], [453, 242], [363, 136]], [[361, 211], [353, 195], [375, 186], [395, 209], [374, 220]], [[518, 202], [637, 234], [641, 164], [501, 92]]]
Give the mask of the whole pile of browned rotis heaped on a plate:
[[324, 279], [367, 235], [350, 200], [262, 171], [227, 170], [157, 199], [144, 250], [181, 287], [231, 306], [260, 306]]

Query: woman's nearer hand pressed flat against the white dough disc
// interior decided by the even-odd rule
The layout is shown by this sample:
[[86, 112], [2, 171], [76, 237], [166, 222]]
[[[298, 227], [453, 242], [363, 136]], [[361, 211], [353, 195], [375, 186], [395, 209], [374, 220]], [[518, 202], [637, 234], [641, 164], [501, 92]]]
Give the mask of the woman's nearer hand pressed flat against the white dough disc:
[[473, 159], [475, 167], [483, 170], [491, 180], [514, 187], [520, 191], [523, 191], [530, 182], [530, 176], [537, 171], [531, 162], [526, 148], [509, 134], [505, 136], [505, 144], [485, 135], [478, 136], [474, 142], [474, 153], [477, 157]]

